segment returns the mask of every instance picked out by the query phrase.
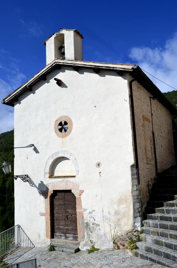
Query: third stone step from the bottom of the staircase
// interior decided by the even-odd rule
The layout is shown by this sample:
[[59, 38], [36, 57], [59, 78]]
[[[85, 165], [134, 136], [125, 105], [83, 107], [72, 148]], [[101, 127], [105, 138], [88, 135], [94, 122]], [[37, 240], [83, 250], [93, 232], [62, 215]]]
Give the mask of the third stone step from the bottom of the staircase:
[[151, 243], [154, 245], [159, 245], [162, 247], [167, 247], [172, 250], [177, 250], [177, 241], [175, 239], [170, 239], [161, 236], [153, 236], [150, 234], [142, 233], [140, 234], [140, 239], [143, 242]]

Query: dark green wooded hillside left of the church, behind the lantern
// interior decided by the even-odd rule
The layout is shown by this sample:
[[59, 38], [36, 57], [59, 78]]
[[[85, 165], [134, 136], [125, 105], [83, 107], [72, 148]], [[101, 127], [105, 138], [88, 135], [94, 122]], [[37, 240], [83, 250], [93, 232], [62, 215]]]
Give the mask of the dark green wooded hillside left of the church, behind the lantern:
[[12, 164], [12, 173], [5, 175], [0, 169], [0, 232], [14, 226], [14, 131], [0, 134], [0, 166], [3, 159]]

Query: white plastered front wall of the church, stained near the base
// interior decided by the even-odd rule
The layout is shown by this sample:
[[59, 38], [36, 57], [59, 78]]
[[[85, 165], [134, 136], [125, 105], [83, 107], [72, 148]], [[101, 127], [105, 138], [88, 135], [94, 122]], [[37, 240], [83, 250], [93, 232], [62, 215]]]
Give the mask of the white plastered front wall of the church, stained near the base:
[[[54, 81], [63, 81], [59, 87]], [[126, 74], [62, 67], [38, 82], [15, 104], [15, 147], [34, 143], [33, 148], [15, 149], [14, 174], [28, 174], [38, 187], [59, 179], [44, 179], [46, 161], [56, 151], [68, 150], [79, 163], [79, 175], [67, 178], [79, 183], [85, 238], [98, 247], [112, 245], [112, 230], [129, 230], [133, 224], [130, 166], [134, 163]], [[66, 138], [54, 132], [59, 116], [69, 116], [73, 130]], [[100, 161], [101, 167], [95, 164]], [[100, 173], [99, 173], [100, 172]], [[37, 188], [15, 181], [15, 224], [20, 224], [35, 244], [46, 239], [45, 199]]]

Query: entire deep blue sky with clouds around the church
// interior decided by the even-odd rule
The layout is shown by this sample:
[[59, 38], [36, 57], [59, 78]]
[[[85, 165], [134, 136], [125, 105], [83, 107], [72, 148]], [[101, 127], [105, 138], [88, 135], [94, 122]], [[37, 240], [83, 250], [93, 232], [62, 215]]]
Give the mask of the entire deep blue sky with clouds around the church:
[[[176, 14], [173, 0], [1, 1], [0, 99], [45, 66], [43, 42], [60, 27], [83, 34], [84, 60], [139, 64], [177, 88]], [[12, 129], [13, 108], [0, 105], [0, 133]]]

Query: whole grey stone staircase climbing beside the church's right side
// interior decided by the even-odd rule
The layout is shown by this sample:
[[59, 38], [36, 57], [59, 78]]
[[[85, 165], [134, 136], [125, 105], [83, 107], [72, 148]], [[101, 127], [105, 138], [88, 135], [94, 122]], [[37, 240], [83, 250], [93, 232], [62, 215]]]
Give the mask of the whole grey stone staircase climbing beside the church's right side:
[[177, 176], [158, 176], [145, 208], [136, 257], [177, 267]]

